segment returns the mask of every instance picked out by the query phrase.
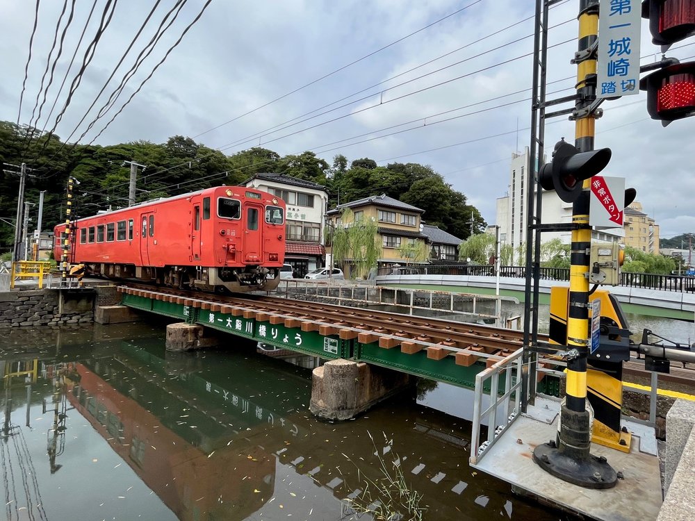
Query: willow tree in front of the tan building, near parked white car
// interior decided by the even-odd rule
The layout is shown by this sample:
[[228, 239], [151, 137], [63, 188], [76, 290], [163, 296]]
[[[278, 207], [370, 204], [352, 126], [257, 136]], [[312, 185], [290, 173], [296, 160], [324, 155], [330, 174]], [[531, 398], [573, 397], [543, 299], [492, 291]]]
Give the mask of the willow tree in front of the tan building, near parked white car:
[[341, 223], [327, 229], [333, 262], [341, 266], [350, 263], [355, 277], [366, 278], [382, 254], [382, 247], [377, 242], [377, 223], [372, 219], [355, 221], [350, 208], [341, 210]]

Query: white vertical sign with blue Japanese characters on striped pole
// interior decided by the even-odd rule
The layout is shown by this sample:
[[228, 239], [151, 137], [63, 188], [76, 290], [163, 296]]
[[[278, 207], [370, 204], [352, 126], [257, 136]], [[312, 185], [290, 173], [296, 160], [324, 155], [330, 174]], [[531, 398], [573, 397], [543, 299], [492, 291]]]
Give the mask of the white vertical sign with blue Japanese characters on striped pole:
[[639, 94], [641, 0], [600, 0], [596, 97]]

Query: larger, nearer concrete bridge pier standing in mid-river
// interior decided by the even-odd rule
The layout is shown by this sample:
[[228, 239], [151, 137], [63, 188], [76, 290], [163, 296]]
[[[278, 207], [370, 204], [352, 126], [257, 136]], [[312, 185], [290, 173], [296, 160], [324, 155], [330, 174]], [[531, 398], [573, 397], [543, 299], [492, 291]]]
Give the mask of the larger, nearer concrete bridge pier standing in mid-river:
[[410, 374], [338, 358], [313, 370], [309, 409], [329, 420], [350, 420], [414, 383]]

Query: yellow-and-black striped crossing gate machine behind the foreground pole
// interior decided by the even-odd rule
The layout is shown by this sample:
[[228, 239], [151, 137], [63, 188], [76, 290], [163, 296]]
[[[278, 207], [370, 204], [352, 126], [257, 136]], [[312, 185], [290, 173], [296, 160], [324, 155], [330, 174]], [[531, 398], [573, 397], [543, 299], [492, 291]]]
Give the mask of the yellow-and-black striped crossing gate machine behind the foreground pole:
[[[630, 432], [621, 430], [623, 406], [623, 362], [630, 359], [630, 331], [619, 301], [606, 290], [596, 290], [589, 295], [589, 303], [601, 301], [600, 341], [595, 352], [589, 354], [587, 363], [587, 399], [594, 409], [591, 441], [630, 452]], [[569, 288], [550, 288], [551, 344], [567, 344], [567, 313]], [[589, 338], [591, 333], [588, 332]]]

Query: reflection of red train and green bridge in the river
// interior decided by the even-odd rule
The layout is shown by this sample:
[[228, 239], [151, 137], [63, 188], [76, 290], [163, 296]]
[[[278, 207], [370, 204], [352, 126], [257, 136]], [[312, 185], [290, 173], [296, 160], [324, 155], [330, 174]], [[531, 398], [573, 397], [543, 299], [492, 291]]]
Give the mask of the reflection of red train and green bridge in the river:
[[[275, 361], [259, 368], [258, 359], [251, 370], [243, 356], [233, 358], [221, 366], [124, 342], [113, 359], [80, 367], [70, 400], [180, 519], [246, 518], [271, 508], [283, 483], [299, 476], [327, 497], [347, 497], [363, 488], [363, 477], [381, 477], [376, 452], [389, 465], [398, 452], [433, 519], [460, 519], [462, 510], [482, 519], [529, 508], [502, 483], [471, 477], [465, 422], [442, 429], [424, 419], [436, 413], [416, 408], [409, 429], [389, 433], [390, 440], [379, 434], [373, 444], [368, 425], [306, 416], [309, 383], [300, 374]], [[233, 365], [237, 369], [227, 373]]]

